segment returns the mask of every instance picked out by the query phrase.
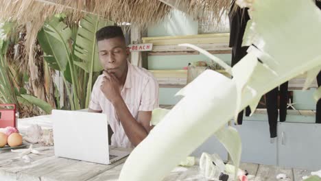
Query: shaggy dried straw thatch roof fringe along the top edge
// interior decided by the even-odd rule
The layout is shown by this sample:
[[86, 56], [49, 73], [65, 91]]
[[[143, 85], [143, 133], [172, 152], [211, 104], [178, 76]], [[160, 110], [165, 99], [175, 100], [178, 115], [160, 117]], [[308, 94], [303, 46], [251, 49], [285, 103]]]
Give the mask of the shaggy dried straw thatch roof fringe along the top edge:
[[0, 0], [0, 21], [43, 22], [59, 12], [67, 12], [71, 20], [77, 20], [93, 13], [147, 27], [162, 20], [175, 6], [194, 16], [212, 16], [213, 12], [221, 14], [229, 4], [228, 0]]

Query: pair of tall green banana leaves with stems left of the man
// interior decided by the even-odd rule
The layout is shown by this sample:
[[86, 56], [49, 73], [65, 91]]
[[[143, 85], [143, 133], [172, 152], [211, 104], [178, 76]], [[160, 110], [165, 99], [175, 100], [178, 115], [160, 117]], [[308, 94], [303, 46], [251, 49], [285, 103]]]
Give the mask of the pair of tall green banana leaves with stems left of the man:
[[86, 108], [91, 95], [94, 77], [102, 71], [99, 65], [95, 32], [112, 25], [88, 14], [77, 25], [68, 26], [59, 17], [45, 22], [38, 33], [38, 42], [49, 67], [61, 71], [71, 110]]

